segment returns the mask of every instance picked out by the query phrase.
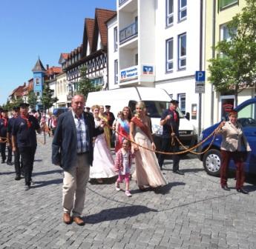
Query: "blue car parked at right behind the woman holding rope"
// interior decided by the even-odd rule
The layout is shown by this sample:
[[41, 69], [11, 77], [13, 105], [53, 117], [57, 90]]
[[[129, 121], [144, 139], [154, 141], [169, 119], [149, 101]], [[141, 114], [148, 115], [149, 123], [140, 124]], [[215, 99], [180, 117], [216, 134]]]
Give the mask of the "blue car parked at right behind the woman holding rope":
[[[243, 126], [243, 132], [252, 148], [252, 151], [248, 154], [247, 161], [245, 162], [245, 171], [247, 173], [256, 173], [256, 98], [246, 100], [234, 108], [234, 110], [238, 113], [237, 121]], [[228, 120], [228, 117], [226, 117], [226, 120]], [[200, 134], [200, 141], [203, 141], [203, 139], [209, 136], [219, 124], [220, 123], [217, 123], [203, 130]], [[204, 142], [203, 145], [199, 147], [198, 151], [206, 150], [206, 148], [209, 147], [211, 140], [212, 139], [208, 139]], [[212, 176], [220, 175], [221, 141], [221, 135], [217, 135], [209, 150], [199, 156], [199, 159], [203, 161], [203, 167], [206, 172]], [[230, 162], [230, 168], [235, 168], [233, 161]]]

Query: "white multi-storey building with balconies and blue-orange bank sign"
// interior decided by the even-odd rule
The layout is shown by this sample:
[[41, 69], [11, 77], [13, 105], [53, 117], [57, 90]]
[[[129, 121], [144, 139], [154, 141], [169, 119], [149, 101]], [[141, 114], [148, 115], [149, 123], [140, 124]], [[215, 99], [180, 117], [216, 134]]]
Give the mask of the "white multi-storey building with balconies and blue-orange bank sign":
[[[117, 0], [108, 21], [108, 85], [165, 89], [198, 127], [201, 0]], [[116, 35], [115, 35], [116, 34]]]

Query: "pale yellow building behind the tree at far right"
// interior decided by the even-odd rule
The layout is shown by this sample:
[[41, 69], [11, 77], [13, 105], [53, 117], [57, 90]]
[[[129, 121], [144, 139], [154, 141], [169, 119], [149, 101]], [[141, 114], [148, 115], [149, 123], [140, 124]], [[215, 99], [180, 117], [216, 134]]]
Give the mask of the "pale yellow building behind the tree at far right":
[[[206, 79], [209, 76], [209, 59], [216, 56], [214, 47], [218, 41], [230, 39], [226, 24], [245, 7], [244, 0], [206, 1]], [[237, 97], [237, 104], [255, 96], [255, 87], [242, 90]], [[223, 116], [234, 107], [234, 95], [219, 93], [211, 82], [206, 81], [206, 93], [203, 94], [203, 127], [220, 122]]]

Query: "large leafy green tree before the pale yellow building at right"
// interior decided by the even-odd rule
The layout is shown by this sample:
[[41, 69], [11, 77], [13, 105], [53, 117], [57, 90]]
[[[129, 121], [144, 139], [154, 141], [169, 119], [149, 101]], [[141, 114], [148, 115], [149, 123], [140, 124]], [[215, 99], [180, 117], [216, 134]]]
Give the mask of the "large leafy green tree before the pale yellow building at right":
[[246, 7], [227, 24], [229, 41], [217, 43], [217, 56], [209, 60], [209, 81], [221, 93], [237, 95], [256, 79], [256, 0], [246, 0]]

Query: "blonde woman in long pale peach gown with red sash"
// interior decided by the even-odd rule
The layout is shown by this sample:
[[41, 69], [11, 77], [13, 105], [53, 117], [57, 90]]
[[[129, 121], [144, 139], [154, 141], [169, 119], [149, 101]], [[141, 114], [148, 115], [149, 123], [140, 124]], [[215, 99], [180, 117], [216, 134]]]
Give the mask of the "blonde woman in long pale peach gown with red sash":
[[[160, 187], [166, 185], [167, 182], [160, 171], [157, 156], [154, 151], [151, 151], [155, 150], [156, 146], [151, 136], [150, 124], [145, 116], [144, 102], [137, 102], [136, 112], [137, 114], [131, 119], [130, 124], [130, 138], [132, 142], [137, 144], [134, 144], [134, 150], [138, 150], [135, 154], [136, 176], [133, 178], [135, 177], [140, 190], [144, 190], [145, 186]], [[148, 147], [151, 150], [138, 145]]]

